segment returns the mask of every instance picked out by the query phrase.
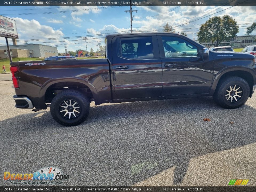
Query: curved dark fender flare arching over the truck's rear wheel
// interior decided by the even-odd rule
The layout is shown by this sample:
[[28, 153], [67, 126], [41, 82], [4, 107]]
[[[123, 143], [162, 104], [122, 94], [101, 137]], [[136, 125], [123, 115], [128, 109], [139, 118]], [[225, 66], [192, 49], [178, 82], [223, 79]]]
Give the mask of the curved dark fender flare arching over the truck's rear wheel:
[[95, 89], [94, 85], [91, 84], [91, 82], [89, 82], [86, 79], [80, 78], [80, 77], [61, 77], [61, 78], [55, 78], [55, 79], [49, 79], [48, 81], [46, 81], [39, 93], [39, 106], [40, 109], [46, 109], [47, 106], [45, 105], [45, 93], [46, 90], [53, 84], [55, 83], [60, 83], [60, 82], [76, 82], [76, 83], [83, 83], [84, 85], [86, 85], [87, 87], [89, 87], [89, 89], [91, 90], [93, 97], [94, 97], [94, 101], [95, 101], [95, 105], [99, 105], [100, 104], [100, 100], [98, 97], [98, 92]]

